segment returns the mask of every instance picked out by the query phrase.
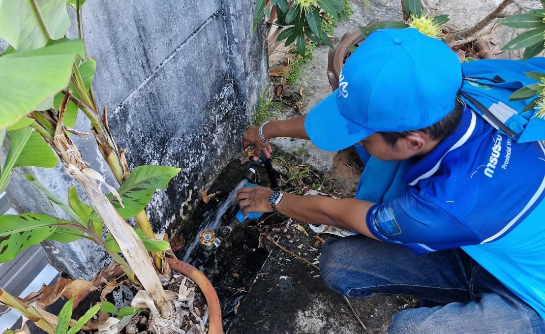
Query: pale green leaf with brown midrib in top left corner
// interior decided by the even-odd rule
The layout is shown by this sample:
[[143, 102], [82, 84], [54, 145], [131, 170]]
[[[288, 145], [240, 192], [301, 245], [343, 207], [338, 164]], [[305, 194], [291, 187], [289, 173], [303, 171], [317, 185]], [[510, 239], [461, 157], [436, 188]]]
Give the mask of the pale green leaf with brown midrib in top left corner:
[[0, 1], [0, 38], [17, 51], [34, 50], [50, 39], [63, 38], [70, 25], [66, 0]]

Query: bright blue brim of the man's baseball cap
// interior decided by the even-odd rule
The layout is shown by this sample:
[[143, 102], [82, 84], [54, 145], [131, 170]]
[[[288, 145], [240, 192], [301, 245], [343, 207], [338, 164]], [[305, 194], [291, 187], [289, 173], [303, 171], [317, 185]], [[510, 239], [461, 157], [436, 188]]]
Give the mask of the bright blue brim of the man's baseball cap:
[[342, 116], [337, 106], [337, 96], [338, 89], [312, 108], [305, 118], [308, 137], [325, 151], [342, 150], [376, 132]]

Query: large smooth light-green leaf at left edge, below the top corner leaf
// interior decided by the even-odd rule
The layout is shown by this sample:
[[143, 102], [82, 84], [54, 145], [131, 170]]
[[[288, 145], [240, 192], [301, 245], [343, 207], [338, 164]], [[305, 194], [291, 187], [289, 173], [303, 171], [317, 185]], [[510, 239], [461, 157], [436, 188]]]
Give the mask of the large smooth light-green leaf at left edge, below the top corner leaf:
[[0, 57], [0, 127], [17, 123], [66, 88], [75, 55], [84, 53], [76, 39]]

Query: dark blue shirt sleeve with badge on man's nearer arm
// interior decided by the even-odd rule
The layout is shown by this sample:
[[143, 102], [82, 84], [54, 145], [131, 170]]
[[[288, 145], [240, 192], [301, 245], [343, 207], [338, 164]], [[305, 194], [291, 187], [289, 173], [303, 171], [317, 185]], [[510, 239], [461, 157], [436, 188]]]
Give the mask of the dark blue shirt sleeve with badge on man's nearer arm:
[[477, 235], [461, 221], [413, 188], [390, 202], [373, 205], [366, 221], [379, 240], [415, 253], [479, 244]]

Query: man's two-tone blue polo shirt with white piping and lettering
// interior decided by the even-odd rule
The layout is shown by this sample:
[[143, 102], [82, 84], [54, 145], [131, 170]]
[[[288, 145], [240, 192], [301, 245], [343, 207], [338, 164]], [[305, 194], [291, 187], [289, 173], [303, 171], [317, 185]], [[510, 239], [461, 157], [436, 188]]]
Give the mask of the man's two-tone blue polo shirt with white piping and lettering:
[[402, 179], [402, 196], [368, 211], [376, 238], [415, 253], [462, 247], [545, 319], [540, 142], [516, 143], [466, 107], [455, 133]]

